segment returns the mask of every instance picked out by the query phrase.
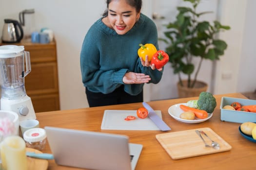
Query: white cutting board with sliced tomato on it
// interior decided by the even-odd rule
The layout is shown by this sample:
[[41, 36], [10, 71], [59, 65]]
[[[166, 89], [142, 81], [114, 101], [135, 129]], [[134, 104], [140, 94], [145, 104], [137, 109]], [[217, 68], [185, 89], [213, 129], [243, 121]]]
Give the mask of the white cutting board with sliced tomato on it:
[[[162, 119], [160, 110], [155, 110]], [[135, 120], [125, 120], [127, 116], [135, 116]], [[140, 119], [137, 110], [105, 110], [101, 122], [102, 130], [146, 130], [159, 131], [157, 125], [148, 117]]]

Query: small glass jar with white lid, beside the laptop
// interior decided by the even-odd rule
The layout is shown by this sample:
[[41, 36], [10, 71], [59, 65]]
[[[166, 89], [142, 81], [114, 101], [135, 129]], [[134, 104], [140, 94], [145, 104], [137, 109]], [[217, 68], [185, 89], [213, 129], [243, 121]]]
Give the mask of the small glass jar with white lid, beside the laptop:
[[46, 132], [42, 128], [32, 128], [24, 132], [23, 139], [28, 148], [43, 150], [46, 144]]

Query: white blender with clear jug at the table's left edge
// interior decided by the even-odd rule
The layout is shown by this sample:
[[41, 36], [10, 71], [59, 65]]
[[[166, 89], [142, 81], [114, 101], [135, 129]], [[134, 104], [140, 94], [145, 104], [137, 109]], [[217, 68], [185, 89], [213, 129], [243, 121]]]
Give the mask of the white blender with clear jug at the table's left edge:
[[[24, 58], [26, 71], [24, 71]], [[31, 71], [30, 56], [23, 46], [0, 46], [0, 110], [10, 110], [19, 120], [36, 119], [31, 98], [27, 96], [24, 77]]]

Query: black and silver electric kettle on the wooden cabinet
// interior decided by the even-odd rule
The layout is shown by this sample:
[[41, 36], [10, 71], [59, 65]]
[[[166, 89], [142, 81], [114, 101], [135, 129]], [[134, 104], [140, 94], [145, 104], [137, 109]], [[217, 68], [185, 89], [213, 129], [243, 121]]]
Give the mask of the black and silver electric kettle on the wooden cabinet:
[[2, 29], [3, 43], [17, 43], [23, 38], [23, 30], [20, 23], [13, 19], [4, 19]]

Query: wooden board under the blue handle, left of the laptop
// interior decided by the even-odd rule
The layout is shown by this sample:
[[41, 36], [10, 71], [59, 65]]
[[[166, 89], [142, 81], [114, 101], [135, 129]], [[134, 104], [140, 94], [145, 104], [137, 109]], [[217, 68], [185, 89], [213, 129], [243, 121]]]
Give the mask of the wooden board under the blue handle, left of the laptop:
[[[39, 150], [36, 150], [33, 148], [26, 148], [26, 152], [42, 153]], [[48, 160], [37, 159], [37, 158], [32, 158], [27, 156], [27, 165], [28, 165], [28, 170], [47, 170]]]

